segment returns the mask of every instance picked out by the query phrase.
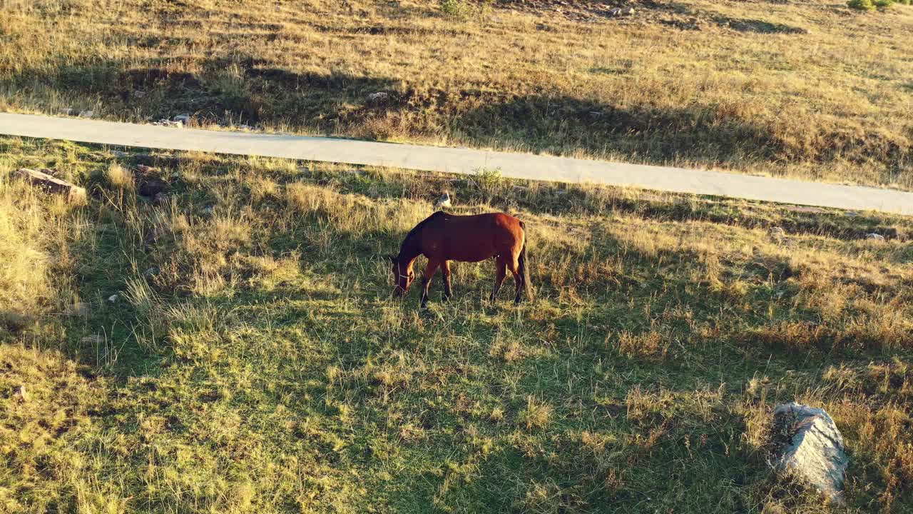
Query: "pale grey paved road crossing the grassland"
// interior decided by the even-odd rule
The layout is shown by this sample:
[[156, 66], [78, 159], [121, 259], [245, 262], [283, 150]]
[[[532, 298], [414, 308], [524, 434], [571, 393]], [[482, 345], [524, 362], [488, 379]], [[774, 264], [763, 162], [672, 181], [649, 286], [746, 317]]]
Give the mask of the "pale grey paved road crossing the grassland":
[[0, 112], [0, 134], [66, 139], [104, 145], [263, 155], [406, 169], [471, 174], [500, 168], [503, 177], [559, 182], [590, 182], [662, 191], [753, 200], [881, 210], [913, 215], [913, 193], [875, 187], [840, 186], [771, 177], [665, 166], [630, 165], [510, 154], [470, 148], [396, 145], [284, 134], [250, 134], [178, 129], [81, 118], [54, 118]]

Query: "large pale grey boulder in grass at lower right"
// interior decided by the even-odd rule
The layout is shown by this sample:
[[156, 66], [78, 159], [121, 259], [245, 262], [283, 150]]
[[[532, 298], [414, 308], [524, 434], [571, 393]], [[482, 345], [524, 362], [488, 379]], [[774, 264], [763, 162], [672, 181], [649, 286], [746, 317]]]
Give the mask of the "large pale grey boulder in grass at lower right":
[[774, 426], [790, 434], [774, 467], [809, 483], [828, 499], [842, 503], [846, 466], [844, 438], [824, 409], [796, 402], [773, 410]]

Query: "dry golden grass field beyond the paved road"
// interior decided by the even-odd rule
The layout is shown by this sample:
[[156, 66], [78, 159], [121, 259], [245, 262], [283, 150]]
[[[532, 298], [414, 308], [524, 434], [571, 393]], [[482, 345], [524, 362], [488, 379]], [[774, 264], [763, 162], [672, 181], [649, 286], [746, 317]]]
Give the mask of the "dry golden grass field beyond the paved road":
[[913, 188], [913, 7], [629, 5], [12, 1], [0, 109]]

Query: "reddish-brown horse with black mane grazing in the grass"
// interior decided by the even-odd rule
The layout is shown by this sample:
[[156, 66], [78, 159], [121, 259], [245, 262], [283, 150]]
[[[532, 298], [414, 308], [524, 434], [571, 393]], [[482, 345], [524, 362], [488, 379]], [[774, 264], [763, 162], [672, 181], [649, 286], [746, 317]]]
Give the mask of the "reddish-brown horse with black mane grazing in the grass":
[[502, 213], [477, 214], [475, 216], [454, 216], [437, 211], [415, 225], [405, 236], [399, 255], [389, 256], [393, 262], [396, 280], [394, 293], [404, 296], [415, 280], [412, 264], [419, 254], [428, 259], [422, 276], [422, 306], [428, 302], [428, 285], [437, 268], [444, 275], [444, 296], [450, 298], [450, 261], [478, 262], [497, 257], [497, 276], [491, 292], [495, 300], [507, 270], [514, 275], [517, 294], [514, 302], [520, 302], [520, 292], [525, 290], [532, 299], [530, 272], [526, 261], [526, 229], [523, 222]]

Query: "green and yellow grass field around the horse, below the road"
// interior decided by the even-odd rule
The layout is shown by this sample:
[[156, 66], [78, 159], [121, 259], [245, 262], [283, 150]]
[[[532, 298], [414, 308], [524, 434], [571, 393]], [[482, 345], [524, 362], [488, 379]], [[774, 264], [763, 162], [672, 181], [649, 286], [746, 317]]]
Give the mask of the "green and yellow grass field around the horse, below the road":
[[[491, 262], [457, 263], [425, 312], [391, 297], [383, 255], [445, 188], [526, 222], [535, 302], [483, 301]], [[0, 510], [908, 512], [911, 238], [870, 214], [0, 139]], [[844, 434], [845, 509], [769, 471], [792, 400]]]

